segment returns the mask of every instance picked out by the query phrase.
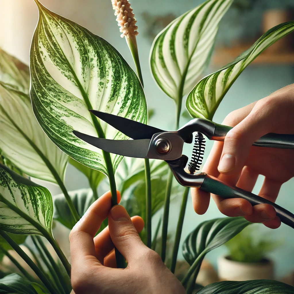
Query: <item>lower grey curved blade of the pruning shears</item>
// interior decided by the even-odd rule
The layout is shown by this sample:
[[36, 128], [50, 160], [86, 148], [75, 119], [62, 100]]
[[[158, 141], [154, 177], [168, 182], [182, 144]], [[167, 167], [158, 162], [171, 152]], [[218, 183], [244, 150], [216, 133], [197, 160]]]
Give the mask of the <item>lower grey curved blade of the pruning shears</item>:
[[118, 155], [128, 157], [145, 158], [150, 144], [150, 139], [141, 140], [109, 140], [103, 138], [97, 138], [89, 136], [78, 131], [73, 133], [83, 141], [102, 149], [109, 153], [115, 153]]

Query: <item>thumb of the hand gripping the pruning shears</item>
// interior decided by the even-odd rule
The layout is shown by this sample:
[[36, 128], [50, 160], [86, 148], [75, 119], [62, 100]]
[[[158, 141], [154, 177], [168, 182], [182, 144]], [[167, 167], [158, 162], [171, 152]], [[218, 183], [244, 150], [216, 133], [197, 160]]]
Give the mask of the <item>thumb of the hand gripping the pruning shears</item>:
[[227, 175], [240, 173], [249, 156], [252, 144], [268, 133], [268, 128], [267, 119], [257, 118], [254, 111], [251, 111], [225, 136], [218, 171]]

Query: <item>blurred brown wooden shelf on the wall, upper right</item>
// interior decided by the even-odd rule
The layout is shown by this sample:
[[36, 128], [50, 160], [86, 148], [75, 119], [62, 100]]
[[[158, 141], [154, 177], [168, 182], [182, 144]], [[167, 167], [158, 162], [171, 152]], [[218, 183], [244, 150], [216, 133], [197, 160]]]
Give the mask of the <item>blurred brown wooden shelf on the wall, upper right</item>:
[[[246, 51], [250, 45], [240, 45], [232, 48], [217, 48], [212, 58], [213, 65], [225, 66], [232, 62], [241, 53]], [[294, 64], [294, 51], [270, 52], [265, 50], [253, 62], [253, 64]]]

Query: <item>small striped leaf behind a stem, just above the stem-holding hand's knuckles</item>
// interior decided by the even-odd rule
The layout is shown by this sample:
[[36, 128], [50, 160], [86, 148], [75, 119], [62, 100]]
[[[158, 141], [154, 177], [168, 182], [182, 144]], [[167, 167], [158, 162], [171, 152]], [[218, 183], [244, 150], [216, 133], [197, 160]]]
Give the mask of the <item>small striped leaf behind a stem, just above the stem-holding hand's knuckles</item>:
[[[91, 189], [79, 189], [76, 191], [70, 191], [69, 196], [74, 203], [74, 207], [78, 212], [78, 215], [82, 217], [91, 204], [95, 201], [93, 197], [93, 191]], [[63, 194], [54, 196], [53, 198], [54, 214], [53, 219], [59, 221], [67, 228], [72, 229], [76, 224], [75, 219], [72, 216], [69, 206], [64, 198]]]

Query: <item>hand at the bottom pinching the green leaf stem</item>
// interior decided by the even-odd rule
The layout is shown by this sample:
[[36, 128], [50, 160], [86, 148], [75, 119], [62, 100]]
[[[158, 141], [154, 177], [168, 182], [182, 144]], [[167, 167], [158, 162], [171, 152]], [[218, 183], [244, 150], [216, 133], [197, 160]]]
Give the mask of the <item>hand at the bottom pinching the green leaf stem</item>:
[[[94, 237], [107, 216], [108, 227]], [[130, 218], [123, 206], [111, 208], [110, 192], [96, 200], [69, 235], [73, 291], [76, 294], [185, 293], [160, 256], [141, 241], [137, 232], [143, 227], [143, 219]], [[128, 261], [125, 269], [115, 268], [114, 245]]]

